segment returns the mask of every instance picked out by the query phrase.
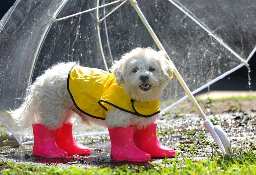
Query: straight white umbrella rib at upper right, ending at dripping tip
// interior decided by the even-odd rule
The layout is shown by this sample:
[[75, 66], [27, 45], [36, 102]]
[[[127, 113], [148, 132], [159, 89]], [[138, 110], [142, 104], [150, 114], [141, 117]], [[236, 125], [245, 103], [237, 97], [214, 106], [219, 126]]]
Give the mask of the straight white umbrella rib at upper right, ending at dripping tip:
[[[176, 4], [175, 2], [173, 2], [172, 0], [168, 0], [170, 3], [172, 3], [175, 7], [177, 7], [181, 12], [185, 13], [185, 15], [187, 15], [191, 20], [193, 20], [197, 25], [199, 25], [201, 28], [203, 28], [208, 34], [210, 34], [214, 39], [216, 39], [220, 44], [222, 44], [226, 49], [228, 49], [229, 52], [231, 52], [233, 55], [236, 56], [236, 58], [238, 58], [240, 61], [242, 61], [246, 67], [249, 67], [250, 65], [240, 56], [238, 55], [233, 49], [231, 49], [228, 44], [224, 43], [218, 36], [214, 35], [213, 32], [211, 32], [209, 29], [207, 29], [206, 27], [204, 27], [204, 25], [202, 25], [203, 22], [201, 22], [199, 19], [195, 19], [192, 15], [190, 15], [188, 12], [186, 12], [184, 9], [186, 9], [187, 11], [189, 11], [185, 6], [183, 6], [182, 4], [180, 4], [180, 7], [178, 4]], [[192, 12], [190, 12], [192, 13]], [[192, 13], [193, 14], [193, 13]], [[195, 15], [194, 15], [195, 16]], [[199, 22], [200, 21], [200, 22]], [[206, 25], [205, 25], [206, 26]]]

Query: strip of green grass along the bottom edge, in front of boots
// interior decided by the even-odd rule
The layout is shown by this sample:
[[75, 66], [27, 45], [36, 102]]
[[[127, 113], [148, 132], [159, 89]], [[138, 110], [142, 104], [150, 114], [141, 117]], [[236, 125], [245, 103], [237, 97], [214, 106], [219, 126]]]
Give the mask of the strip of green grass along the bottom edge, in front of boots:
[[[242, 144], [241, 144], [242, 145]], [[0, 174], [256, 174], [256, 153], [247, 148], [233, 148], [232, 156], [218, 151], [207, 153], [205, 160], [192, 160], [178, 154], [163, 159], [159, 165], [123, 165], [119, 167], [81, 168], [75, 166], [39, 166], [0, 161]]]

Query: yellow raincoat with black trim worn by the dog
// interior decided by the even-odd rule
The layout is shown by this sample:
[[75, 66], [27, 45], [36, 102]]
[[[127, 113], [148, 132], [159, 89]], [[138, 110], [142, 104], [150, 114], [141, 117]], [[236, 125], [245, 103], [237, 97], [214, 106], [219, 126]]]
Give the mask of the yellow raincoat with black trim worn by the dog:
[[133, 100], [116, 83], [116, 78], [104, 70], [73, 66], [67, 83], [70, 97], [82, 113], [105, 120], [105, 112], [116, 107], [125, 112], [151, 117], [160, 112], [159, 100], [140, 102]]

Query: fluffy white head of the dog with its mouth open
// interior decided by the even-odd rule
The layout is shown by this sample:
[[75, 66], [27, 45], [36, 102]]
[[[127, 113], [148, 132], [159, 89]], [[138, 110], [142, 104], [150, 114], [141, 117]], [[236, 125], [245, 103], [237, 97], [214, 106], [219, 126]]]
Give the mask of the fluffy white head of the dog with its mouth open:
[[136, 48], [115, 61], [110, 71], [117, 84], [139, 101], [159, 98], [173, 73], [173, 64], [164, 57], [163, 51], [152, 48]]

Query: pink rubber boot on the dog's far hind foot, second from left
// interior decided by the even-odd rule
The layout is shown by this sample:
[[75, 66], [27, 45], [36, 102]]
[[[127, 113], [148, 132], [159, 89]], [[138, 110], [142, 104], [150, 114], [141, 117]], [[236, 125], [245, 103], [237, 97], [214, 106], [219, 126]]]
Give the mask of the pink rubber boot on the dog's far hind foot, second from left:
[[80, 145], [73, 137], [71, 123], [64, 123], [62, 127], [56, 130], [55, 140], [57, 145], [65, 150], [68, 155], [89, 155], [91, 150], [88, 147]]

